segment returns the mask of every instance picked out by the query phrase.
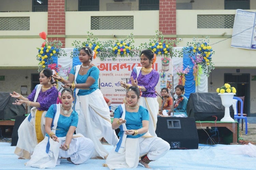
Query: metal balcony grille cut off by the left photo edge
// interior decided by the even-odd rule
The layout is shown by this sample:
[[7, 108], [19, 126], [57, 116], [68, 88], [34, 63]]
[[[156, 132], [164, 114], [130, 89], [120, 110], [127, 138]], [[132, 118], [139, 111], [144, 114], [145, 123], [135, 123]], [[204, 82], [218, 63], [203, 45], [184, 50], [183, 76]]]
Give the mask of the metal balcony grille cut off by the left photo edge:
[[29, 30], [30, 17], [0, 17], [0, 30]]

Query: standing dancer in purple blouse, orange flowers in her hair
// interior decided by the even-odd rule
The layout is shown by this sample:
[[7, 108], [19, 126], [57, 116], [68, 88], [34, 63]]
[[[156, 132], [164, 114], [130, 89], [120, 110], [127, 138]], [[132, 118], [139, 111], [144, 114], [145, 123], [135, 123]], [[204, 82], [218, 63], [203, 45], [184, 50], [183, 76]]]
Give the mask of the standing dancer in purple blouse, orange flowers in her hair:
[[155, 87], [159, 81], [159, 73], [152, 68], [156, 61], [156, 55], [151, 50], [143, 50], [140, 54], [142, 67], [135, 67], [131, 72], [131, 79], [128, 84], [120, 82], [121, 86], [128, 89], [130, 86], [138, 86], [142, 91], [140, 105], [145, 107], [150, 115], [148, 131], [156, 136], [156, 122], [159, 105], [157, 102]]

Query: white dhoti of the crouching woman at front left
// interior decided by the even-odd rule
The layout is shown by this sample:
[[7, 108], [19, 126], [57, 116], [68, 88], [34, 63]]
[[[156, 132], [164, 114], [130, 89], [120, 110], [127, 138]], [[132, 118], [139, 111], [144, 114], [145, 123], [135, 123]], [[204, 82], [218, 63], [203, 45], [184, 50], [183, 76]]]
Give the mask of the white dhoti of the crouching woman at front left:
[[[49, 149], [47, 143], [49, 139]], [[25, 164], [27, 167], [53, 168], [60, 164], [59, 157], [70, 157], [74, 164], [82, 164], [92, 156], [94, 144], [82, 134], [73, 135], [70, 147], [67, 151], [60, 149], [60, 145], [65, 143], [66, 137], [59, 137], [59, 142], [45, 137], [34, 149], [31, 159]], [[48, 152], [48, 153], [47, 153]]]

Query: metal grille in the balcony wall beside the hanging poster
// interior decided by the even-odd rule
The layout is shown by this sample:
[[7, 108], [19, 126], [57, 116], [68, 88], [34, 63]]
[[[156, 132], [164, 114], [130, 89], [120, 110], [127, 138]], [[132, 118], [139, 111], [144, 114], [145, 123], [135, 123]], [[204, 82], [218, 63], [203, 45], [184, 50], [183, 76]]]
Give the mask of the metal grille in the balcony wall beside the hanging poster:
[[197, 15], [197, 28], [233, 28], [235, 15]]

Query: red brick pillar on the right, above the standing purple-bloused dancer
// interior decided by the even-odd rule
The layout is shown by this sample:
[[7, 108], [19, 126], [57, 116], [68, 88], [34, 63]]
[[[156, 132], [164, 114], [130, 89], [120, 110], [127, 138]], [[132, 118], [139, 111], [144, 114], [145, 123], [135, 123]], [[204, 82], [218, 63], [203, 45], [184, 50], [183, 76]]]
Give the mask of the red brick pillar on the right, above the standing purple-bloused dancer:
[[159, 31], [176, 34], [176, 0], [159, 0]]

